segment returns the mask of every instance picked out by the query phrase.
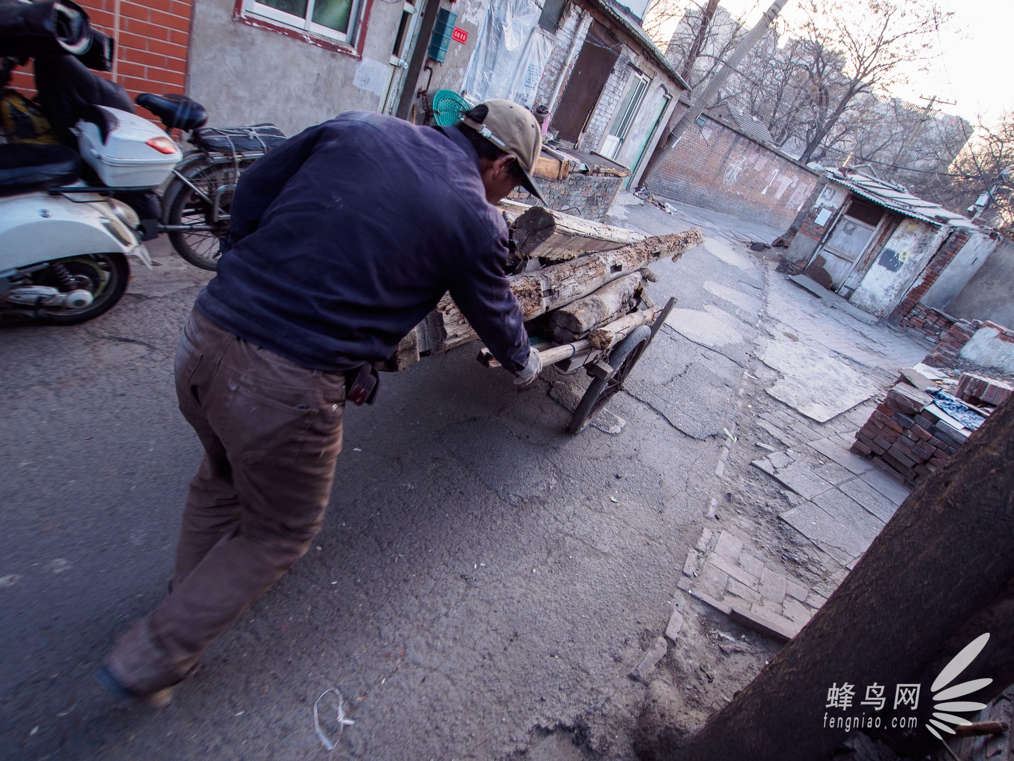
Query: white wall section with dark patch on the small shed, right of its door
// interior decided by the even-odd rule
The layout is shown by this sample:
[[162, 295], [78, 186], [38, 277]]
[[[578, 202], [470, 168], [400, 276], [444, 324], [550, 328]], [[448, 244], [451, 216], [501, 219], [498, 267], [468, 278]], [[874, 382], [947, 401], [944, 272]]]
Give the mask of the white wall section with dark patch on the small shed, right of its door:
[[876, 317], [890, 313], [923, 272], [951, 228], [906, 219], [894, 230], [849, 299]]

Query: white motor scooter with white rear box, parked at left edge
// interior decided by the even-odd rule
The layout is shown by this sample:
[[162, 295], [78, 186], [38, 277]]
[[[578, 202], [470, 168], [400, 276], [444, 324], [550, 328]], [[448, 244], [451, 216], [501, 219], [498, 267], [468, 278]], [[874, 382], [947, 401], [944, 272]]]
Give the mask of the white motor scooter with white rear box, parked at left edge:
[[[182, 155], [164, 132], [94, 107], [76, 127], [80, 156], [108, 186], [160, 185]], [[98, 317], [127, 289], [127, 257], [151, 268], [137, 213], [78, 179], [62, 145], [0, 145], [0, 315], [72, 325]]]

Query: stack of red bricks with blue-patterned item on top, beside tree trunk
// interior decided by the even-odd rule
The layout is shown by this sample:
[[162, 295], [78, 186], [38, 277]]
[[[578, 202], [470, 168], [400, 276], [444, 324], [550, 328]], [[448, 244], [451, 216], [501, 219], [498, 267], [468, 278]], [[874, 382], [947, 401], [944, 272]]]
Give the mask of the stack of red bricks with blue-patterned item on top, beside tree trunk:
[[928, 410], [932, 404], [928, 394], [898, 384], [856, 432], [853, 452], [880, 458], [910, 481], [930, 475], [967, 438]]

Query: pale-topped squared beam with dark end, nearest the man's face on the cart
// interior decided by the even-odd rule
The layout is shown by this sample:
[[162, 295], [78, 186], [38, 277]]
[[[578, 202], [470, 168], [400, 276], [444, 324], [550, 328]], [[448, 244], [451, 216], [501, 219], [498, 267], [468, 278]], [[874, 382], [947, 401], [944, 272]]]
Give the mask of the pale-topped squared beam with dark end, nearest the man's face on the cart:
[[[511, 219], [511, 212], [517, 209], [506, 204], [501, 202], [501, 207], [508, 210], [507, 217]], [[517, 243], [516, 254], [520, 259], [564, 262], [590, 251], [621, 249], [647, 237], [642, 232], [593, 222], [545, 206], [524, 209], [511, 220], [511, 236]]]

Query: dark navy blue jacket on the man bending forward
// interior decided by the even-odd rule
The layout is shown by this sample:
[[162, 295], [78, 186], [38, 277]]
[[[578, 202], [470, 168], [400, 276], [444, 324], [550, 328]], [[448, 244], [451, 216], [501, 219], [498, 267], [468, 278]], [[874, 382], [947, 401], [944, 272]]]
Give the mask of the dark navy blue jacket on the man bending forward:
[[507, 225], [457, 129], [349, 112], [287, 140], [236, 188], [231, 248], [197, 308], [309, 369], [394, 353], [450, 291], [493, 354], [524, 366]]

